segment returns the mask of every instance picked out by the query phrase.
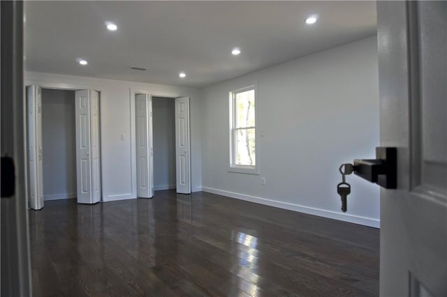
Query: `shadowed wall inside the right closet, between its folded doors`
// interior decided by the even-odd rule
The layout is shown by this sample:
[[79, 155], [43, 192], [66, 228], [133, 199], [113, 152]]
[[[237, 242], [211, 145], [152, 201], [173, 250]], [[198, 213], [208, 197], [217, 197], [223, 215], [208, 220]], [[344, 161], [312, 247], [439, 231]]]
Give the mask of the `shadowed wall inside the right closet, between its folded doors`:
[[154, 190], [175, 189], [175, 100], [152, 98]]

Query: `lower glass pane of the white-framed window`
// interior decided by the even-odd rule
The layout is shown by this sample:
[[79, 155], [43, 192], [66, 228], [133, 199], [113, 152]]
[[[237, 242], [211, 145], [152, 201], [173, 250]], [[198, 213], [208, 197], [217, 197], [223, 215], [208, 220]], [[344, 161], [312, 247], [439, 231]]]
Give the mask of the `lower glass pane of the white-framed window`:
[[256, 165], [254, 135], [254, 129], [235, 130], [235, 165]]

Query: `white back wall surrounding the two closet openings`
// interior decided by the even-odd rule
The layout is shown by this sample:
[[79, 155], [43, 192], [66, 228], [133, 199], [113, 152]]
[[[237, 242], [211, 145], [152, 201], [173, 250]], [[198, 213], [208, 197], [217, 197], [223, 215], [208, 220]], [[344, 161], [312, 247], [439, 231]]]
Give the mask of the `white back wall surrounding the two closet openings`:
[[[154, 96], [191, 98], [191, 190], [200, 190], [200, 98], [196, 89], [112, 79], [25, 73], [25, 85], [101, 91], [101, 174], [103, 201], [136, 197], [135, 91]], [[124, 140], [123, 140], [124, 138]]]

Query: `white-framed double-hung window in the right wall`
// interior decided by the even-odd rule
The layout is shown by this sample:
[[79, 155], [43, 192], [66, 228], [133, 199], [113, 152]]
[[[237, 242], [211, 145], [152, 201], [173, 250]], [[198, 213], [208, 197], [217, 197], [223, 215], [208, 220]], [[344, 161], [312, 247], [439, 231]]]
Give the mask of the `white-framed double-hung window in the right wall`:
[[255, 109], [253, 86], [230, 93], [230, 171], [258, 173]]

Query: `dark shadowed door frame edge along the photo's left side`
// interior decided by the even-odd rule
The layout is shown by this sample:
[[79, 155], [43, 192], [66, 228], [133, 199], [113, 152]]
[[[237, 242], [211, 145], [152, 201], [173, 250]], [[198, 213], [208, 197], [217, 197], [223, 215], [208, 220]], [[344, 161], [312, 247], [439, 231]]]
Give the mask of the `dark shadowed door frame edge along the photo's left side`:
[[[27, 135], [24, 127], [23, 87], [23, 1], [1, 1], [1, 156], [13, 159], [15, 193], [1, 197], [1, 296], [31, 296], [31, 261], [29, 224], [25, 192], [24, 147]], [[2, 160], [3, 163], [3, 160]], [[3, 165], [3, 164], [2, 164]], [[3, 167], [3, 166], [2, 166]], [[4, 193], [2, 193], [4, 194]]]

